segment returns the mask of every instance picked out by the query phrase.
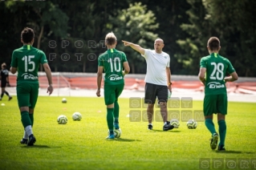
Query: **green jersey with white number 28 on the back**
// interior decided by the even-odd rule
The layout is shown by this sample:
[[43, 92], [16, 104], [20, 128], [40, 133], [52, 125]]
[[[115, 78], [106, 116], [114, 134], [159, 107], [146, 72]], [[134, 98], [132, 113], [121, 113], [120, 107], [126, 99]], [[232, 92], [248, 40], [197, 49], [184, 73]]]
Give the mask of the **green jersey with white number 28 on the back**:
[[235, 71], [230, 60], [212, 53], [201, 59], [200, 67], [206, 68], [205, 95], [226, 94], [224, 78]]

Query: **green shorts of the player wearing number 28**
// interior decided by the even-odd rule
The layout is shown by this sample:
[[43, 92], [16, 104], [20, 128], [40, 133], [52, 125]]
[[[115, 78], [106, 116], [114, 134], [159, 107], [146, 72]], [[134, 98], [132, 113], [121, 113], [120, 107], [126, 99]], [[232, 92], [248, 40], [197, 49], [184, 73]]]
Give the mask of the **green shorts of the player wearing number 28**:
[[204, 99], [204, 114], [213, 115], [221, 113], [227, 114], [228, 99], [227, 95], [205, 95]]

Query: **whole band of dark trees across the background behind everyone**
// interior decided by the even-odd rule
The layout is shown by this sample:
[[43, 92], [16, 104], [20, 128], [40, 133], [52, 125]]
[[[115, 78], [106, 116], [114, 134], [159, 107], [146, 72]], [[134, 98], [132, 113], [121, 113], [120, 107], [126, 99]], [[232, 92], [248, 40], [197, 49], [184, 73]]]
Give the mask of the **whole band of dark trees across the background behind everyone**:
[[[35, 47], [46, 52], [52, 71], [96, 72], [97, 57], [106, 51], [100, 42], [108, 32], [118, 38], [117, 49], [125, 51], [132, 73], [146, 72], [144, 59], [121, 40], [153, 48], [153, 40], [164, 39], [163, 51], [170, 55], [175, 75], [197, 75], [201, 57], [208, 55], [209, 37], [221, 40], [220, 55], [230, 59], [239, 76], [256, 76], [256, 1], [242, 0], [52, 0], [0, 1], [0, 63], [10, 66], [14, 49], [21, 47], [21, 30], [35, 30]], [[63, 48], [67, 40], [69, 46]], [[83, 47], [75, 47], [75, 41]], [[95, 47], [90, 47], [89, 41]], [[49, 47], [55, 41], [57, 47]], [[56, 59], [50, 60], [55, 53]], [[70, 55], [68, 61], [61, 55]], [[81, 60], [75, 53], [83, 54]], [[94, 56], [91, 58], [91, 54]], [[198, 66], [195, 68], [195, 66]]]

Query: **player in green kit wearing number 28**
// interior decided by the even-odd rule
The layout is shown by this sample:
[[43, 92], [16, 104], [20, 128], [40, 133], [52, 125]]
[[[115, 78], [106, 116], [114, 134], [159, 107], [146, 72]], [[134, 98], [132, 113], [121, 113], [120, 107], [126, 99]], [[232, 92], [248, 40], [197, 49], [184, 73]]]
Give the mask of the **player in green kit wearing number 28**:
[[[200, 62], [199, 79], [205, 85], [204, 115], [205, 126], [212, 134], [210, 147], [217, 148], [219, 151], [225, 151], [226, 121], [227, 114], [227, 95], [226, 82], [233, 82], [238, 79], [238, 75], [230, 61], [218, 54], [221, 50], [221, 42], [217, 37], [209, 38], [207, 49], [209, 55], [203, 57]], [[230, 76], [225, 77], [226, 74]], [[217, 114], [217, 123], [219, 126], [219, 135], [217, 134], [214, 123], [213, 113]]]

